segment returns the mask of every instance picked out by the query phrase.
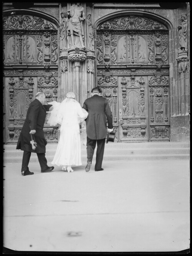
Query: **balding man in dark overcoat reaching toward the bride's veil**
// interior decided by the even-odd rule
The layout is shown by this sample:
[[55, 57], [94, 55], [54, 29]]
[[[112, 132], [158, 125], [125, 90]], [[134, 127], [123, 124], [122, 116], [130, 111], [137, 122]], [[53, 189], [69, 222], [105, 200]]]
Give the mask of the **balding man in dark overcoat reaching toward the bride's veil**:
[[[43, 133], [43, 125], [45, 123], [46, 111], [50, 110], [52, 105], [43, 105], [45, 103], [45, 94], [38, 92], [35, 96], [35, 100], [31, 102], [27, 114], [25, 123], [23, 124], [22, 131], [20, 133], [17, 149], [23, 150], [22, 160], [22, 175], [32, 175], [28, 168], [31, 152], [36, 153], [41, 172], [51, 172], [54, 167], [48, 167], [47, 160], [45, 158], [45, 146], [47, 141], [45, 140]], [[31, 147], [31, 134], [34, 134], [37, 147], [32, 150]]]

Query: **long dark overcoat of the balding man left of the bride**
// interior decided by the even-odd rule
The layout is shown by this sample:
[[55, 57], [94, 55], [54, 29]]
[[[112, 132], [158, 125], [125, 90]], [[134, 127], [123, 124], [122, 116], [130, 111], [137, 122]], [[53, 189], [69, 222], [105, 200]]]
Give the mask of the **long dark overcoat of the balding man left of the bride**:
[[[45, 140], [43, 133], [43, 125], [45, 123], [46, 111], [48, 111], [51, 106], [52, 105], [41, 104], [38, 99], [31, 102], [26, 114], [25, 123], [23, 124], [23, 128], [18, 139], [17, 149], [33, 153], [45, 153], [47, 141]], [[36, 130], [36, 133], [34, 134], [35, 141], [37, 143], [35, 151], [32, 150], [30, 144], [30, 130]]]

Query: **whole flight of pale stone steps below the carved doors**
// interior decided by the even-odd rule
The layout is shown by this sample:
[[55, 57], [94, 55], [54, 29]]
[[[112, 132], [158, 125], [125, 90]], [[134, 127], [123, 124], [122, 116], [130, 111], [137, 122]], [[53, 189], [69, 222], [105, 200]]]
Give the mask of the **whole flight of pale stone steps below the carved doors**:
[[[57, 143], [46, 145], [46, 158], [53, 160]], [[3, 145], [3, 163], [21, 163], [23, 151], [16, 150], [16, 145]], [[108, 143], [105, 145], [104, 160], [156, 160], [189, 159], [190, 145], [185, 142], [152, 143]], [[94, 153], [95, 160], [96, 150]], [[87, 160], [86, 146], [81, 146], [82, 161]], [[37, 155], [31, 154], [30, 162], [38, 162]]]

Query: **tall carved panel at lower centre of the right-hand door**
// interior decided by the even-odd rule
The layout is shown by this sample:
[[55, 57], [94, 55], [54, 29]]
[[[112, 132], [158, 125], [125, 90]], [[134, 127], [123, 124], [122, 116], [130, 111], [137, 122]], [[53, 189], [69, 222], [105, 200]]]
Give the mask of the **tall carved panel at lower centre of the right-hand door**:
[[[128, 78], [128, 79], [127, 79]], [[146, 137], [146, 116], [145, 116], [145, 79], [122, 77], [122, 109], [123, 115], [119, 119], [122, 126], [121, 141], [148, 141]]]

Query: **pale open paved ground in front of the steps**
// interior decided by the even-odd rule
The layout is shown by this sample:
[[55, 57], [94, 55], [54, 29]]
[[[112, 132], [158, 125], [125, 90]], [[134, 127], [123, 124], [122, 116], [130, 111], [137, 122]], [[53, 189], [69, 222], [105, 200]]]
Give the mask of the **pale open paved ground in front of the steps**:
[[[49, 163], [49, 165], [51, 165]], [[181, 251], [189, 248], [189, 161], [4, 168], [4, 246], [17, 251]]]

